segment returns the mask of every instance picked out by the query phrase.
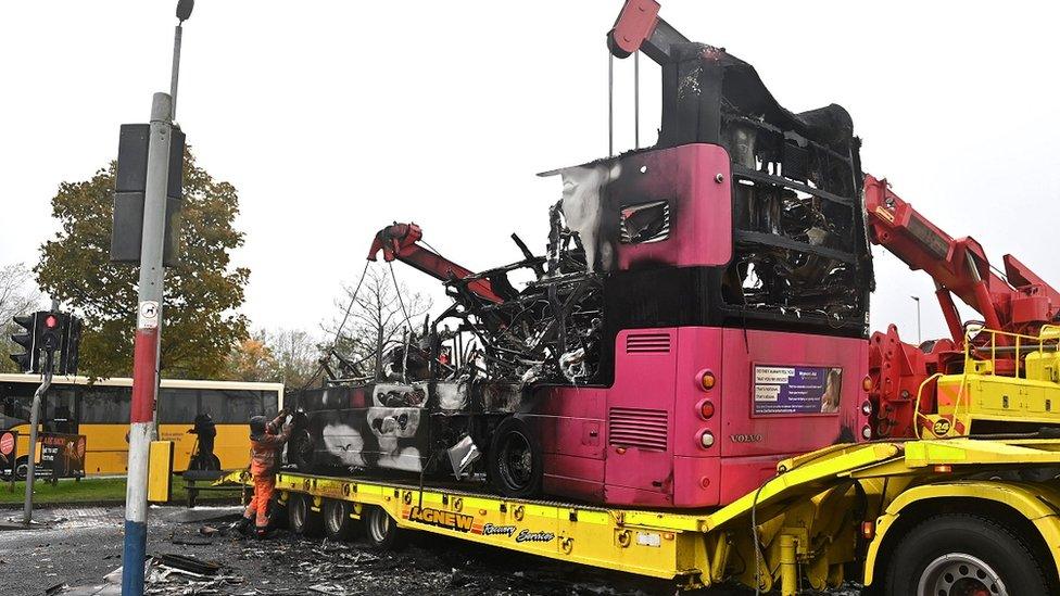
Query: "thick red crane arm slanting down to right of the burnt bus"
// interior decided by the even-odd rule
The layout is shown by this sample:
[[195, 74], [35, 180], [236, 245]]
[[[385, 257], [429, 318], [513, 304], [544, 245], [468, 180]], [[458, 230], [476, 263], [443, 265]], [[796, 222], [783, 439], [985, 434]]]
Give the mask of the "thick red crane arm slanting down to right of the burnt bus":
[[1026, 324], [1048, 322], [1060, 307], [1060, 294], [1012, 255], [1008, 275], [994, 272], [983, 246], [970, 237], [955, 239], [891, 191], [886, 180], [865, 178], [869, 237], [935, 280], [936, 296], [958, 344], [963, 330], [950, 294], [983, 315], [990, 329], [1018, 331]]

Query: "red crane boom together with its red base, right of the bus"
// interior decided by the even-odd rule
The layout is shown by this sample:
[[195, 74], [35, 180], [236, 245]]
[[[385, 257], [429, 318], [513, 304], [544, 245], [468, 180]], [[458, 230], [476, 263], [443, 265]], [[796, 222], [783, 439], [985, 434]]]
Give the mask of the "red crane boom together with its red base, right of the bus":
[[[1005, 274], [995, 270], [979, 242], [954, 238], [934, 225], [895, 194], [885, 179], [866, 175], [865, 206], [869, 239], [935, 281], [935, 296], [951, 335], [951, 340], [913, 345], [901, 341], [897, 327], [891, 325], [870, 338], [875, 435], [911, 436], [918, 416], [936, 408], [936, 373], [957, 372], [964, 365], [966, 331], [954, 295], [982, 314], [988, 329], [1035, 335], [1057, 320], [1060, 294], [1010, 254], [1002, 259]], [[998, 345], [1008, 342], [1004, 333], [989, 337]], [[1007, 354], [994, 365], [1015, 375], [1020, 355]]]

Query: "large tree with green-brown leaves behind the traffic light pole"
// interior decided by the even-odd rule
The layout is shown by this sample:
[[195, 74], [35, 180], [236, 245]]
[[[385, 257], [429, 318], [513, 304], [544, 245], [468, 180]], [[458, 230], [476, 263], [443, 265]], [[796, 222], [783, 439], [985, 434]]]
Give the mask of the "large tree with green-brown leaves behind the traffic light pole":
[[[139, 270], [110, 262], [115, 167], [59, 187], [52, 215], [62, 229], [34, 268], [41, 290], [84, 316], [79, 372], [100, 378], [131, 373], [136, 328]], [[232, 227], [238, 205], [236, 188], [214, 180], [186, 150], [180, 264], [165, 275], [164, 378], [217, 378], [247, 338], [238, 309], [250, 269], [231, 267], [229, 256], [243, 243]]]

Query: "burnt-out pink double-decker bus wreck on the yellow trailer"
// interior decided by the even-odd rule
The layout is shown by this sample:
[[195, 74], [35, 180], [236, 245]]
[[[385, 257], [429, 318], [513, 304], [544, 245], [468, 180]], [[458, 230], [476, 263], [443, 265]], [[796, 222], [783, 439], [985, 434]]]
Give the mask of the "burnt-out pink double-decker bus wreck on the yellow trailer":
[[[543, 255], [513, 234], [523, 258], [475, 274], [418, 243], [415, 225], [377, 234], [369, 259], [381, 252], [439, 278], [452, 305], [383, 354], [382, 378], [351, 379], [359, 371], [332, 354], [326, 386], [295, 396], [304, 415], [289, 462], [485, 473], [505, 496], [699, 507], [753, 489], [781, 454], [855, 440], [872, 271], [851, 119], [834, 104], [788, 112], [749, 64], [665, 33], [644, 46], [662, 67], [658, 143], [546, 173], [564, 191]], [[533, 277], [521, 290], [517, 270]], [[797, 429], [724, 406], [727, 426], [750, 429], [732, 443], [748, 445], [708, 452], [692, 445], [708, 446], [702, 434], [678, 436], [706, 424], [680, 405], [702, 397], [685, 388], [680, 351], [714, 350], [687, 347], [687, 329], [743, 342], [725, 395], [746, 401], [752, 365], [786, 357], [840, 365], [822, 369], [830, 384], [843, 367], [853, 378]], [[820, 346], [834, 354], [810, 362]]]

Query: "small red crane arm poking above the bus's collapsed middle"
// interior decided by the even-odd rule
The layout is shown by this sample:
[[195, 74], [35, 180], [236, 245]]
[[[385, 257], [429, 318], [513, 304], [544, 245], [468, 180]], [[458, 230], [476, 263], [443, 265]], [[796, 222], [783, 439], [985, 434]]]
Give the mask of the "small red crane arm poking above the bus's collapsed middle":
[[[376, 255], [382, 251], [383, 261], [388, 263], [394, 259], [401, 261], [442, 281], [449, 281], [450, 278], [466, 279], [475, 275], [470, 269], [419, 245], [417, 242], [422, 237], [424, 231], [416, 224], [394, 223], [392, 226], [387, 226], [379, 230], [371, 241], [368, 261], [376, 261]], [[504, 302], [504, 299], [493, 292], [493, 287], [488, 279], [472, 280], [468, 282], [467, 289], [490, 302]]]

